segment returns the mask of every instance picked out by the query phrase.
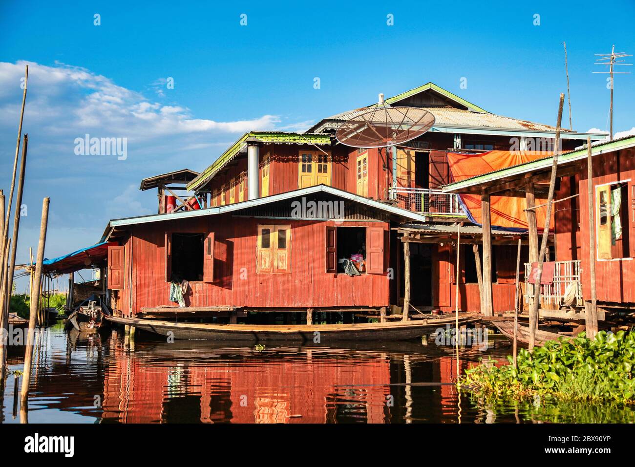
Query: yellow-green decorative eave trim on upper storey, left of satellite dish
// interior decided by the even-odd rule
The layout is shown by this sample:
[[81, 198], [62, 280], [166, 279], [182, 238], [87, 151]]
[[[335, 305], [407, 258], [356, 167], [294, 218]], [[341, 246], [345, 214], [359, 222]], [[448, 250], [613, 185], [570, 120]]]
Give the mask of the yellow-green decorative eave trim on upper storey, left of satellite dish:
[[294, 132], [247, 132], [244, 133], [232, 146], [227, 149], [227, 151], [223, 152], [218, 156], [218, 158], [210, 165], [208, 168], [203, 170], [194, 180], [192, 180], [189, 184], [187, 184], [188, 190], [196, 190], [197, 188], [203, 186], [211, 179], [213, 179], [214, 175], [216, 175], [222, 168], [224, 168], [227, 163], [236, 158], [237, 154], [243, 152], [246, 148], [246, 140], [248, 138], [255, 138], [259, 142], [264, 144], [272, 144], [272, 143], [284, 143], [284, 144], [319, 144], [319, 145], [330, 145], [331, 137], [330, 135], [325, 135], [323, 133], [315, 134], [315, 133], [294, 133]]

